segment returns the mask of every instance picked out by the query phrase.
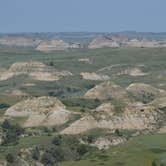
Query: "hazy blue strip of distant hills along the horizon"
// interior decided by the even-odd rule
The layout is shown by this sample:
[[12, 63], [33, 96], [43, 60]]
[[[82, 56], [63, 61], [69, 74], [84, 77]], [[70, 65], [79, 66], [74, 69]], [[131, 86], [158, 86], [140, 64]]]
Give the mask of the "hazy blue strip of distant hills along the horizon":
[[148, 39], [148, 40], [165, 40], [166, 32], [136, 32], [136, 31], [122, 31], [122, 32], [34, 32], [34, 33], [0, 33], [0, 37], [3, 36], [24, 36], [34, 37], [38, 39], [55, 39], [59, 38], [66, 42], [85, 42], [90, 41], [98, 36], [103, 35], [123, 35], [129, 39]]

